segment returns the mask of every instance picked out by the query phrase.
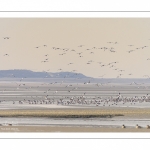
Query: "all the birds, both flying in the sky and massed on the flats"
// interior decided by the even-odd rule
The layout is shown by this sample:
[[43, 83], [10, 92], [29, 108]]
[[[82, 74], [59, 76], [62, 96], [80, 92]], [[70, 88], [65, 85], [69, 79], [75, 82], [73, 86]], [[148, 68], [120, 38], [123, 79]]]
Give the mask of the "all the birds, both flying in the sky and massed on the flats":
[[[3, 37], [3, 39], [4, 40], [10, 40], [10, 37]], [[80, 49], [81, 51], [80, 52], [77, 52], [75, 49], [70, 49], [70, 48], [60, 48], [60, 47], [52, 47], [52, 50], [53, 51], [59, 51], [60, 53], [59, 53], [59, 55], [60, 56], [64, 56], [64, 55], [67, 55], [67, 53], [68, 52], [72, 52], [73, 53], [73, 55], [77, 55], [78, 56], [78, 61], [80, 61], [80, 58], [82, 59], [82, 57], [85, 57], [84, 56], [84, 52], [85, 51], [87, 51], [87, 52], [89, 52], [89, 54], [90, 55], [94, 55], [95, 54], [95, 51], [96, 50], [102, 50], [102, 51], [109, 51], [110, 53], [116, 53], [117, 51], [115, 50], [115, 48], [114, 48], [114, 46], [113, 45], [116, 45], [116, 44], [119, 44], [118, 42], [107, 42], [107, 44], [109, 44], [110, 45], [110, 47], [92, 47], [92, 48], [85, 48], [85, 45], [79, 45], [79, 46], [77, 46], [77, 48], [78, 49]], [[127, 53], [133, 53], [134, 51], [138, 51], [138, 50], [143, 50], [143, 49], [146, 49], [146, 48], [148, 48], [148, 46], [141, 46], [141, 47], [137, 47], [137, 48], [134, 48], [134, 45], [127, 45], [129, 48], [130, 48], [130, 50], [128, 50], [127, 51]], [[48, 45], [46, 45], [46, 44], [44, 44], [44, 45], [42, 45], [42, 46], [36, 46], [36, 47], [34, 47], [35, 49], [40, 49], [41, 47], [44, 47], [44, 48], [48, 48]], [[4, 54], [4, 56], [6, 56], [6, 57], [11, 57], [11, 55], [9, 55], [8, 53], [6, 53], [6, 54]], [[49, 62], [49, 58], [48, 58], [48, 56], [49, 56], [49, 54], [45, 54], [44, 55], [44, 57], [45, 57], [45, 59], [44, 60], [41, 60], [41, 63], [48, 63]], [[60, 58], [61, 59], [61, 58]], [[147, 60], [150, 60], [150, 58], [147, 58]], [[95, 60], [88, 60], [87, 62], [86, 62], [86, 65], [90, 65], [90, 64], [92, 64], [92, 63], [95, 63]], [[99, 64], [99, 66], [100, 67], [109, 67], [110, 69], [113, 69], [114, 71], [116, 71], [117, 73], [118, 73], [118, 76], [117, 76], [117, 78], [120, 78], [122, 75], [123, 75], [123, 72], [125, 72], [125, 70], [124, 69], [122, 69], [122, 68], [117, 68], [116, 67], [116, 64], [118, 64], [119, 62], [118, 61], [113, 61], [113, 62], [109, 62], [109, 63], [103, 63], [103, 62], [96, 62], [97, 64]], [[66, 65], [73, 65], [74, 63], [73, 62], [68, 62], [68, 64], [66, 64]], [[44, 71], [44, 72], [46, 72], [47, 74], [49, 74], [49, 71], [50, 71], [50, 69], [49, 70], [46, 70], [46, 71]], [[58, 71], [63, 71], [63, 69], [62, 68], [59, 68], [58, 69]], [[73, 68], [73, 70], [72, 70], [72, 72], [73, 73], [75, 73], [75, 75], [78, 75], [78, 73], [76, 73], [76, 70]], [[132, 73], [128, 73], [128, 75], [129, 76], [131, 76], [132, 75]], [[15, 75], [14, 74], [11, 74], [11, 76], [12, 77], [15, 77]], [[103, 78], [105, 76], [105, 74], [103, 74], [103, 75], [101, 75], [101, 76], [99, 76], [100, 78]], [[64, 76], [64, 78], [66, 78], [67, 76]], [[149, 75], [143, 75], [143, 77], [146, 77], [146, 78], [148, 78], [148, 79], [150, 79], [150, 77], [149, 77]], [[26, 77], [24, 77], [24, 78], [26, 78]], [[19, 87], [21, 87], [21, 86], [25, 86], [26, 84], [24, 83], [21, 83], [21, 81], [23, 81], [24, 80], [24, 78], [22, 78], [21, 80], [20, 80], [20, 83], [16, 83], [16, 85], [17, 85], [17, 89], [19, 89]], [[57, 82], [54, 82], [54, 83], [50, 83], [50, 84], [56, 84]], [[63, 81], [61, 82], [61, 84], [63, 83]], [[87, 81], [87, 82], [84, 82], [83, 84], [90, 84], [91, 83], [91, 81]], [[130, 83], [130, 85], [139, 85], [138, 83], [135, 83], [135, 82], [132, 82], [132, 83]], [[103, 86], [103, 85], [105, 85], [105, 84], [102, 84], [102, 83], [97, 83], [97, 84], [95, 84], [97, 87], [99, 87], [100, 85], [101, 86]], [[70, 87], [71, 85], [67, 85], [67, 86], [65, 86], [65, 88], [67, 88], [67, 87]], [[29, 87], [29, 88], [31, 88], [31, 87]], [[37, 88], [39, 88], [39, 86], [37, 87]], [[76, 89], [78, 89], [78, 87], [74, 87], [73, 89], [71, 89], [71, 90], [68, 90], [68, 92], [71, 92], [71, 91], [73, 91], [73, 90], [76, 90]], [[47, 93], [47, 92], [49, 92], [51, 89], [47, 89], [44, 93]], [[4, 90], [5, 91], [5, 90]], [[56, 90], [54, 93], [57, 93], [58, 92], [58, 90]], [[53, 93], [53, 94], [54, 94]], [[133, 104], [135, 104], [135, 102], [141, 102], [141, 101], [144, 101], [147, 97], [145, 97], [145, 98], [143, 98], [143, 97], [141, 97], [140, 99], [139, 98], [130, 98], [130, 99], [128, 99], [128, 98], [120, 98], [120, 93], [119, 93], [119, 95], [118, 95], [118, 97], [117, 98], [110, 98], [110, 99], [102, 99], [101, 97], [96, 97], [96, 98], [94, 98], [94, 100], [91, 100], [91, 101], [86, 101], [85, 100], [85, 94], [86, 94], [86, 92], [84, 92], [84, 94], [82, 95], [82, 96], [79, 96], [79, 97], [65, 97], [65, 98], [68, 98], [68, 100], [66, 101], [64, 101], [63, 102], [63, 99], [61, 98], [61, 99], [59, 99], [59, 100], [57, 100], [57, 105], [58, 104], [63, 104], [63, 105], [69, 105], [69, 104], [89, 104], [89, 103], [91, 103], [91, 104], [96, 104], [96, 106], [98, 106], [98, 105], [100, 105], [102, 102], [103, 102], [103, 106], [105, 105], [105, 104], [108, 104], [109, 102], [113, 102], [112, 103], [112, 105], [117, 105], [117, 103], [118, 102], [123, 102], [123, 104], [124, 103], [126, 103], [126, 102], [131, 102], [131, 103], [133, 103]], [[26, 101], [26, 103], [29, 103], [29, 104], [38, 104], [38, 103], [40, 103], [40, 104], [42, 104], [42, 103], [46, 103], [46, 104], [54, 104], [55, 103], [55, 101], [54, 101], [54, 99], [52, 99], [52, 100], [50, 100], [49, 98], [48, 98], [48, 96], [49, 95], [46, 95], [45, 96], [45, 100], [42, 100], [42, 101], [38, 101], [38, 100], [35, 100], [32, 96], [31, 96], [31, 98], [32, 99], [34, 99], [34, 100], [28, 100], [28, 101]], [[150, 97], [148, 97], [148, 99], [149, 99]], [[76, 99], [76, 100], [75, 100]], [[19, 101], [19, 104], [22, 104], [22, 103], [24, 103], [23, 101]], [[15, 104], [15, 102], [13, 102], [13, 104]], [[110, 105], [109, 105], [110, 106]]]

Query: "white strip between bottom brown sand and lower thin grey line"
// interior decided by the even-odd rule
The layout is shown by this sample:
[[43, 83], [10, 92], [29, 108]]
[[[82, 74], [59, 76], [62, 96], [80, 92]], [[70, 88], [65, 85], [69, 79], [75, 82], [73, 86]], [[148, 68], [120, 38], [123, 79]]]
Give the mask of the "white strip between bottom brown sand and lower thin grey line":
[[[138, 130], [138, 129], [137, 129]], [[37, 132], [29, 132], [29, 133], [0, 133], [0, 138], [29, 138], [29, 139], [140, 139], [140, 138], [148, 138], [150, 139], [150, 131], [147, 133], [138, 133], [138, 132], [97, 132], [97, 133], [84, 133], [84, 132], [47, 132], [47, 133], [37, 133]]]

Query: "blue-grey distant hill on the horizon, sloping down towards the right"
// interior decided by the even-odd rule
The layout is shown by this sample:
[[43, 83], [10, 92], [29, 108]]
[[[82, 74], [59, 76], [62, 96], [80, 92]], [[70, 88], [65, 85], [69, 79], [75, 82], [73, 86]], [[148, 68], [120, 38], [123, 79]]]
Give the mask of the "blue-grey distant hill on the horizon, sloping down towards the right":
[[0, 70], [0, 78], [89, 78], [73, 72], [34, 72], [31, 70]]

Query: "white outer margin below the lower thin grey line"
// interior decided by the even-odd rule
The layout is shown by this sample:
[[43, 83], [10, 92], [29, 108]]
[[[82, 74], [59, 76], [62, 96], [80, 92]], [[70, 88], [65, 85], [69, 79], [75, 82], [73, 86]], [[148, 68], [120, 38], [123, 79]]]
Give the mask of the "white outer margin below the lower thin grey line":
[[5, 150], [128, 150], [135, 149], [141, 150], [149, 148], [149, 140], [55, 140], [55, 139], [44, 139], [44, 140], [1, 140], [1, 148]]

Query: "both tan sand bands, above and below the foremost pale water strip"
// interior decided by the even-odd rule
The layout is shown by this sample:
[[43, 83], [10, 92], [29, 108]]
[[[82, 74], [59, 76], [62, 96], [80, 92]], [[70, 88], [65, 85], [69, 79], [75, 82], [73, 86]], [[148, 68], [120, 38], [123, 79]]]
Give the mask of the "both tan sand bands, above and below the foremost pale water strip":
[[[150, 119], [148, 108], [101, 108], [101, 109], [51, 109], [51, 110], [0, 110], [0, 117], [52, 117], [52, 118], [89, 118], [121, 116], [123, 118]], [[146, 127], [100, 127], [100, 126], [9, 126], [1, 125], [0, 132], [150, 132]]]

